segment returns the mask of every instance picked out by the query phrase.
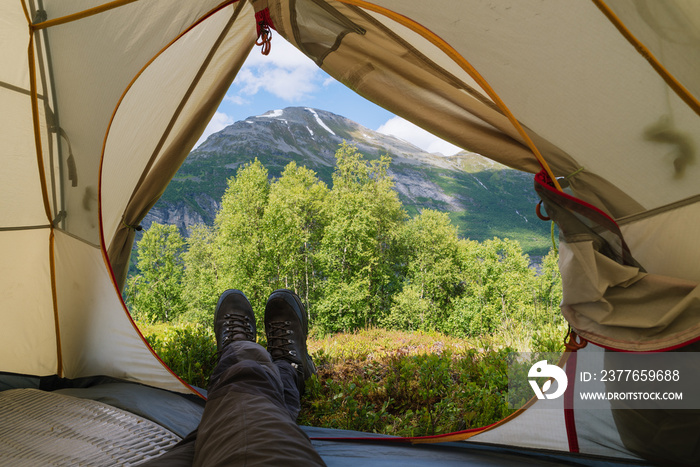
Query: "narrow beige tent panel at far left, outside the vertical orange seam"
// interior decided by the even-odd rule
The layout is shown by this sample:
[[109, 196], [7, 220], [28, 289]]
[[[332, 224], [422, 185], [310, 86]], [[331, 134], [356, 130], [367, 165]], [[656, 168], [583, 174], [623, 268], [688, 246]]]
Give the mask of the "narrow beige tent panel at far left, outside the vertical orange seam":
[[54, 374], [50, 229], [32, 125], [27, 22], [18, 2], [2, 5], [0, 43], [0, 370]]

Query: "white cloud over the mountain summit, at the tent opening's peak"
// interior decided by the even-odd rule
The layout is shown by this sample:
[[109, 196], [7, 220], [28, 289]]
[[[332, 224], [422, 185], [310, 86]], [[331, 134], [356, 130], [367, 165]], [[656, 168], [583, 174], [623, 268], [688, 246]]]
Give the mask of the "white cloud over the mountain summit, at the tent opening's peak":
[[257, 47], [250, 53], [234, 81], [238, 93], [227, 100], [235, 102], [265, 90], [284, 101], [298, 102], [318, 89], [322, 76], [312, 60], [276, 34], [269, 55], [262, 55]]

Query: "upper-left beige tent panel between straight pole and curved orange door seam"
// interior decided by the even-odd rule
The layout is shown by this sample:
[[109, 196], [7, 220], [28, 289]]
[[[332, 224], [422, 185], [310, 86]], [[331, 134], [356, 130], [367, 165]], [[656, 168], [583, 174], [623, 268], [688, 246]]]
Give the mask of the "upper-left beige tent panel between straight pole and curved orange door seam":
[[[45, 4], [50, 19], [85, 8], [85, 2]], [[173, 9], [165, 1], [136, 2], [47, 28], [44, 48], [48, 45], [51, 51], [58, 117], [66, 134], [61, 142], [65, 154], [70, 142], [78, 176], [77, 186], [64, 181], [68, 215], [63, 228], [71, 234], [95, 245], [100, 243], [100, 155], [122, 94], [153, 57], [216, 4], [185, 2]], [[206, 54], [206, 49], [200, 53]], [[173, 101], [177, 99], [167, 100]], [[138, 142], [145, 133], [133, 138]], [[156, 131], [149, 133], [157, 135]], [[122, 189], [131, 191], [127, 185]]]

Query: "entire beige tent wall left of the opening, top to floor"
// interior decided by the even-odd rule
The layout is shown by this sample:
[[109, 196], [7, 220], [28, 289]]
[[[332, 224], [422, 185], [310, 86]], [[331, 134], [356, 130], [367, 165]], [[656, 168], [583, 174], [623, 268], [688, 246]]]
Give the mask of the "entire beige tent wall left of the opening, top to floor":
[[[34, 17], [37, 3], [25, 3]], [[113, 236], [137, 182], [148, 178], [142, 172], [149, 160], [164, 167], [148, 178], [156, 187], [148, 202], [162, 192], [254, 42], [252, 8], [155, 0], [89, 11], [102, 3], [42, 3], [46, 12], [38, 21], [49, 25], [33, 34], [36, 126], [27, 18], [21, 1], [0, 4], [0, 255], [6, 265], [0, 271], [0, 371], [107, 374], [188, 392], [133, 326], [100, 227], [104, 220]], [[244, 12], [240, 23], [233, 21], [237, 8]], [[61, 19], [83, 10], [87, 14]], [[203, 27], [192, 29], [200, 21]], [[209, 53], [215, 43], [217, 52]], [[173, 52], [149, 70], [171, 44]], [[136, 79], [142, 76], [143, 83]], [[130, 89], [137, 92], [125, 95], [127, 113], [116, 125], [123, 146], [106, 153], [101, 172], [109, 124]], [[102, 205], [101, 177], [111, 187]]]

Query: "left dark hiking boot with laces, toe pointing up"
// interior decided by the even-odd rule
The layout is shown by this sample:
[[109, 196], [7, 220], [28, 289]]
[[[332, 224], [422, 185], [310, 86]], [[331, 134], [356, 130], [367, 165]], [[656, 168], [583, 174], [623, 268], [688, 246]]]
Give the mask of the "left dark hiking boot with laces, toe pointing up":
[[214, 312], [214, 334], [219, 354], [233, 341], [255, 342], [253, 307], [240, 290], [227, 290], [219, 297]]

